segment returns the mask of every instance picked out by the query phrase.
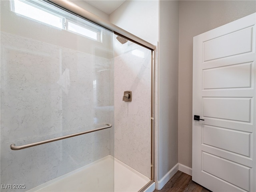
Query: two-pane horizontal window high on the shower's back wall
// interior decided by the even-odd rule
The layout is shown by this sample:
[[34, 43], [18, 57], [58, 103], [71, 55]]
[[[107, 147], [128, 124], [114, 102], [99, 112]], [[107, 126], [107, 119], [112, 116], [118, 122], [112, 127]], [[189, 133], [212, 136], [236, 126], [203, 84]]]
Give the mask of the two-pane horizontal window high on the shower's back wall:
[[12, 0], [12, 11], [26, 18], [100, 41], [100, 28], [94, 27], [93, 24], [88, 24], [89, 22], [86, 20], [81, 19], [82, 22], [76, 22], [76, 19], [59, 15], [46, 7], [40, 6], [38, 2]]

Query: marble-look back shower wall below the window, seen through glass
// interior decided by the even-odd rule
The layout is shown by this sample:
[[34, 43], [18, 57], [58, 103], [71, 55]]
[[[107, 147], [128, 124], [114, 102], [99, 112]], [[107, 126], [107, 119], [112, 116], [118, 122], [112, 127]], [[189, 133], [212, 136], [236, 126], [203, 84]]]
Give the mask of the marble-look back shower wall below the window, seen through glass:
[[[110, 154], [109, 129], [10, 150], [12, 143], [18, 146], [105, 126], [113, 108], [107, 101], [99, 101], [104, 106], [95, 104], [95, 91], [101, 92], [94, 88], [94, 55], [5, 32], [0, 42], [1, 183], [26, 184], [23, 191], [29, 190]], [[112, 62], [103, 60], [105, 68]], [[110, 80], [110, 73], [100, 78]], [[108, 81], [102, 83], [109, 86]]]

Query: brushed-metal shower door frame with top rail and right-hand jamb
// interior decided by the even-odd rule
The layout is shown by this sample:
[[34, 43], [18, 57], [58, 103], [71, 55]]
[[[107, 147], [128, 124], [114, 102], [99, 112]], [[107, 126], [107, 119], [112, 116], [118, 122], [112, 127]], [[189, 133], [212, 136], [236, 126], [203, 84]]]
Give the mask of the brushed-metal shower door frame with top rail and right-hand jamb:
[[154, 169], [155, 169], [155, 158], [154, 158], [154, 105], [155, 105], [155, 59], [156, 58], [156, 46], [135, 36], [134, 34], [131, 34], [130, 32], [127, 32], [126, 30], [88, 12], [87, 10], [84, 10], [83, 8], [73, 4], [72, 2], [69, 2], [67, 0], [43, 0], [45, 2], [48, 2], [50, 4], [53, 4], [54, 6], [57, 6], [59, 8], [62, 8], [68, 12], [71, 12], [73, 14], [76, 14], [82, 18], [85, 18], [87, 20], [90, 20], [91, 22], [98, 24], [112, 32], [114, 34], [121, 36], [123, 38], [126, 38], [127, 40], [134, 42], [140, 46], [143, 46], [145, 48], [148, 48], [151, 50], [151, 178], [150, 182], [146, 184], [143, 188], [141, 188], [138, 192], [142, 192], [146, 190], [151, 184], [154, 183]]

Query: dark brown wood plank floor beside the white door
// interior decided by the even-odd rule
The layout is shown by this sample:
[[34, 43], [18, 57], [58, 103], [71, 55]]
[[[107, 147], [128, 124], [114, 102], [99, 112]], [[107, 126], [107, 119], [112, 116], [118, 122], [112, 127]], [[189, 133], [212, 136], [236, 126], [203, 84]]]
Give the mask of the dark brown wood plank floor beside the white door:
[[192, 181], [192, 176], [181, 171], [176, 172], [174, 176], [166, 183], [161, 190], [154, 192], [211, 192], [206, 188]]

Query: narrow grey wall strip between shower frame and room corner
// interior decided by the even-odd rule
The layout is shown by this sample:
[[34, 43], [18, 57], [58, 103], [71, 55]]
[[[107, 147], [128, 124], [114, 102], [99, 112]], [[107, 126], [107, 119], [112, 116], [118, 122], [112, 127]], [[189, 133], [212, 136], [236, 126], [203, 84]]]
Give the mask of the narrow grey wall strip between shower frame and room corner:
[[179, 2], [160, 1], [159, 6], [158, 185], [161, 186], [178, 166]]

